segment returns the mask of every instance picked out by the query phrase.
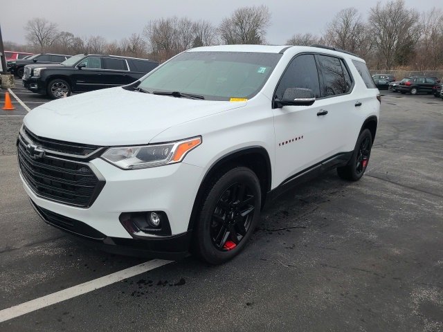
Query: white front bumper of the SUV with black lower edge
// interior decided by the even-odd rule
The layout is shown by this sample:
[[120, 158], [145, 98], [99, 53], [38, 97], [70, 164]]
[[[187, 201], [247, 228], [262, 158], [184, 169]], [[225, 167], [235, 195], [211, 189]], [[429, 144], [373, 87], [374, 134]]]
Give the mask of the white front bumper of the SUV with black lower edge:
[[[188, 252], [190, 230], [188, 225], [199, 183], [205, 169], [186, 163], [137, 170], [118, 169], [105, 160], [96, 158], [90, 162], [105, 178], [106, 183], [96, 201], [89, 208], [78, 208], [37, 196], [29, 185], [21, 180], [33, 206], [46, 223], [92, 240], [102, 249], [138, 255], [165, 257], [180, 256]], [[119, 217], [123, 212], [163, 211], [168, 216], [171, 235], [147, 234], [135, 238], [123, 227]], [[69, 219], [54, 222], [51, 214]], [[82, 231], [78, 231], [81, 229]], [[163, 255], [164, 254], [164, 255]]]

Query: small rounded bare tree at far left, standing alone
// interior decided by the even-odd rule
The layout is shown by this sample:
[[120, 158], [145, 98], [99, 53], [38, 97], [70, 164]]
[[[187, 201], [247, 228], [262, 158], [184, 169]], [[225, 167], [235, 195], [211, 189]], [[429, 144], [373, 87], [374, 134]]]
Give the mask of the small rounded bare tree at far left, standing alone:
[[30, 19], [25, 26], [26, 40], [33, 46], [38, 46], [41, 51], [53, 46], [57, 37], [57, 24], [44, 18]]

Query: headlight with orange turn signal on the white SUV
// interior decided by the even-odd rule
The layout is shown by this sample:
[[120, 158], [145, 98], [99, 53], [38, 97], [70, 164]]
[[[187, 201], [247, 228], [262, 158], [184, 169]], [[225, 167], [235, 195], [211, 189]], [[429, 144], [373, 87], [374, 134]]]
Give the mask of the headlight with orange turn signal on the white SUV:
[[102, 158], [123, 169], [156, 167], [180, 163], [189, 151], [199, 145], [201, 137], [158, 145], [111, 147], [102, 154]]

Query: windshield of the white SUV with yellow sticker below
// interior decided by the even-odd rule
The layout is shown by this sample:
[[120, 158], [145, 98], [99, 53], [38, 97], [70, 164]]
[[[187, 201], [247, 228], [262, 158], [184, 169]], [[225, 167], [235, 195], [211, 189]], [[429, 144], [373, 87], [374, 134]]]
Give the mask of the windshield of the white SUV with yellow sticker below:
[[206, 100], [252, 98], [262, 89], [278, 53], [186, 52], [145, 77], [138, 88], [192, 93]]

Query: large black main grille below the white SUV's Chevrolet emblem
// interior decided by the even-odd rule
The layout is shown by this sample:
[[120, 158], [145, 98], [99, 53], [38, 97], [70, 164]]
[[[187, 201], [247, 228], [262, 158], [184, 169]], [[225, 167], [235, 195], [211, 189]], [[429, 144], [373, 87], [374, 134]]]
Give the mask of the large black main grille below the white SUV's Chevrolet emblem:
[[17, 156], [26, 183], [45, 199], [88, 208], [105, 185], [87, 163], [52, 156], [33, 158], [21, 138]]

